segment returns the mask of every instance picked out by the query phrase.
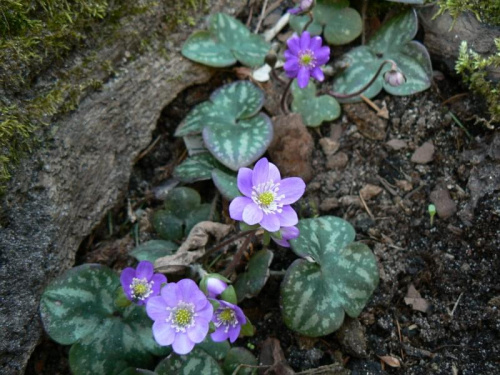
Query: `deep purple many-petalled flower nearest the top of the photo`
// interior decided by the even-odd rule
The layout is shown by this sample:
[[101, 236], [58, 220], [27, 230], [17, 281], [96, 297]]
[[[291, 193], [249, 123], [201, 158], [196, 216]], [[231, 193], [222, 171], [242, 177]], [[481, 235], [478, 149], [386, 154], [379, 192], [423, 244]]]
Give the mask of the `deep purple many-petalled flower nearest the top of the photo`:
[[311, 38], [308, 31], [304, 31], [300, 38], [294, 35], [287, 41], [284, 69], [289, 78], [297, 78], [301, 89], [307, 86], [311, 76], [320, 82], [325, 79], [320, 66], [330, 59], [330, 48], [322, 47], [322, 43], [321, 37]]

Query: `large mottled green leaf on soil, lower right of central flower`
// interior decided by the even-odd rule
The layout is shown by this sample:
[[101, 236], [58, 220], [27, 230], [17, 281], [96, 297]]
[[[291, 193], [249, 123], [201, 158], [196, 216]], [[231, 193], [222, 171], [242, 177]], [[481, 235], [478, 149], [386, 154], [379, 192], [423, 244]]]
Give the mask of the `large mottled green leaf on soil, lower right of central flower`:
[[300, 236], [291, 240], [298, 259], [281, 284], [285, 324], [306, 336], [337, 330], [347, 313], [357, 317], [378, 285], [377, 262], [370, 249], [353, 243], [346, 221], [324, 216], [301, 220]]

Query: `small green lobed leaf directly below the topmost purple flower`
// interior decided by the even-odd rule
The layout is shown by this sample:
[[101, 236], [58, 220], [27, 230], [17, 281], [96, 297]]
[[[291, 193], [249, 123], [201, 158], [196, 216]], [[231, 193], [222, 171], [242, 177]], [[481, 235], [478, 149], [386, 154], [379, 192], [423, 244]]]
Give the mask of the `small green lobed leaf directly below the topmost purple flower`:
[[324, 121], [332, 121], [340, 116], [337, 100], [329, 95], [316, 97], [316, 85], [313, 82], [301, 89], [295, 81], [292, 94], [292, 111], [300, 113], [307, 126], [319, 126]]

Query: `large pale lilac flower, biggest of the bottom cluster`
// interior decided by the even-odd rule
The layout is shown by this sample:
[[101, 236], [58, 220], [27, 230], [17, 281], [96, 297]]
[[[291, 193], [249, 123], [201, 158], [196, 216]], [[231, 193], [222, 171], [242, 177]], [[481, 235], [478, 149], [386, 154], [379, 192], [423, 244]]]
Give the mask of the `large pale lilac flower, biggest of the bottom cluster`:
[[146, 305], [153, 319], [153, 336], [160, 345], [172, 345], [177, 354], [189, 353], [208, 334], [213, 315], [212, 304], [190, 279], [169, 283], [161, 295]]

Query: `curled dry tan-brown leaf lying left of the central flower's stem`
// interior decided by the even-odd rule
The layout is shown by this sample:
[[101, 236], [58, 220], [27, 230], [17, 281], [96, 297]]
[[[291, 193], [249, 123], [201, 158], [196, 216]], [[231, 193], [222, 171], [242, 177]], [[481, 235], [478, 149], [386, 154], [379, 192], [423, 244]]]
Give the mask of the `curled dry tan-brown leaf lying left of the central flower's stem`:
[[186, 267], [205, 254], [205, 245], [210, 236], [219, 241], [227, 236], [230, 231], [230, 225], [212, 221], [202, 221], [196, 224], [175, 254], [156, 259], [155, 270], [170, 274], [183, 273]]

